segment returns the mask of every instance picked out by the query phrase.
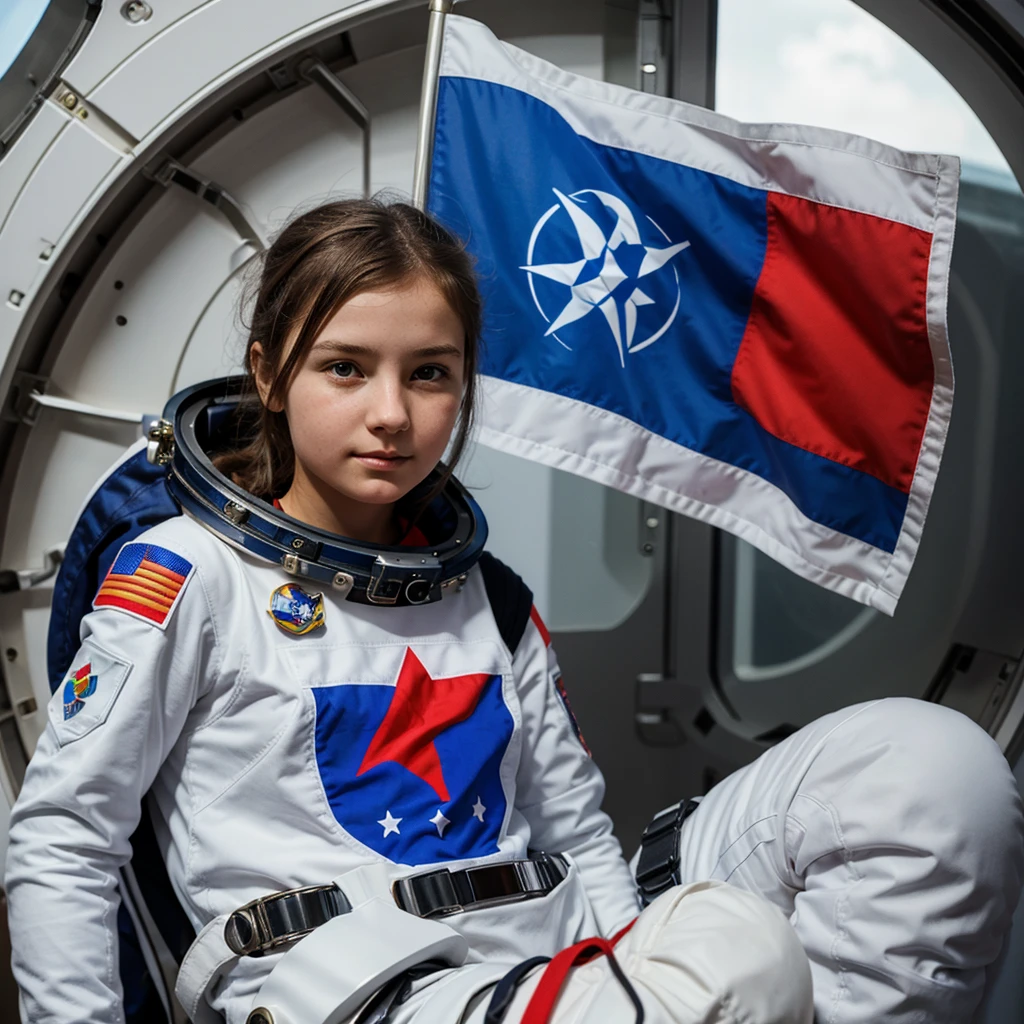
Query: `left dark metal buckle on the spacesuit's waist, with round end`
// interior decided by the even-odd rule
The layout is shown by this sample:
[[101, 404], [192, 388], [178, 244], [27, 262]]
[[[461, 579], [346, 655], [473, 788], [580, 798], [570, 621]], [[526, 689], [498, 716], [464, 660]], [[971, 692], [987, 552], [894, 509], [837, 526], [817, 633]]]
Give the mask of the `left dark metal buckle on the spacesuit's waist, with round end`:
[[262, 956], [350, 909], [335, 885], [286, 889], [240, 906], [224, 924], [224, 941], [239, 956]]

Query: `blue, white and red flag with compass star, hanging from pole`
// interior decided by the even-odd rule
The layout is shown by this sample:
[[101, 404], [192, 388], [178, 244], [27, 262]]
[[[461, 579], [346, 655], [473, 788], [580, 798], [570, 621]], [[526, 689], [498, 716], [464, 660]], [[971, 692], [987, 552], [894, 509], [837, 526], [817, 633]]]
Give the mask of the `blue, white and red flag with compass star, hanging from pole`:
[[891, 614], [952, 406], [958, 171], [581, 78], [450, 16], [429, 209], [477, 259], [480, 439]]

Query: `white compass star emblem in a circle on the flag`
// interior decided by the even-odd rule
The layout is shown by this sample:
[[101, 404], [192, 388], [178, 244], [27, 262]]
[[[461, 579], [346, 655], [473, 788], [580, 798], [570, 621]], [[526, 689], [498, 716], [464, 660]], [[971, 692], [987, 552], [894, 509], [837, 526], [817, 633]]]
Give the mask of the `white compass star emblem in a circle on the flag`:
[[[557, 188], [552, 191], [558, 202], [534, 226], [526, 265], [519, 268], [526, 271], [534, 302], [548, 322], [545, 337], [554, 337], [571, 350], [558, 332], [600, 310], [614, 339], [620, 366], [625, 368], [627, 353], [654, 344], [679, 313], [682, 291], [679, 272], [671, 261], [689, 247], [689, 242], [673, 243], [654, 220], [645, 217], [660, 234], [659, 241], [667, 243], [646, 244], [633, 211], [610, 193], [596, 188], [582, 188], [569, 196]], [[564, 263], [535, 261], [545, 229], [557, 223], [554, 218], [568, 219], [579, 240], [580, 258]], [[644, 233], [652, 236], [653, 231], [647, 228]], [[671, 271], [671, 283], [659, 280], [663, 271], [665, 275]], [[542, 304], [535, 278], [568, 288], [568, 294], [562, 296], [564, 304], [554, 316], [545, 308], [548, 305], [554, 311], [550, 301]], [[659, 308], [662, 297], [671, 303], [667, 313]], [[645, 307], [651, 307], [649, 312], [655, 315], [648, 315]]]

